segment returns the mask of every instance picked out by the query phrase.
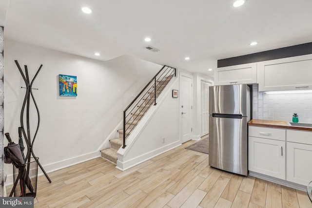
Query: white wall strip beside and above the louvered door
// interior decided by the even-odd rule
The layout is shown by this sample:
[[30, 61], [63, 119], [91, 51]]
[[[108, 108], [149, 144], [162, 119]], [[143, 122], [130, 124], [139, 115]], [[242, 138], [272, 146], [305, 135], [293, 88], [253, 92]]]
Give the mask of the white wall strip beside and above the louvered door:
[[203, 74], [193, 75], [193, 132], [192, 138], [194, 140], [200, 139], [201, 134], [201, 120], [200, 120], [200, 81], [204, 80], [213, 85], [214, 78]]

